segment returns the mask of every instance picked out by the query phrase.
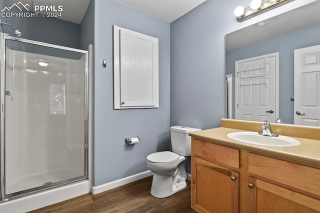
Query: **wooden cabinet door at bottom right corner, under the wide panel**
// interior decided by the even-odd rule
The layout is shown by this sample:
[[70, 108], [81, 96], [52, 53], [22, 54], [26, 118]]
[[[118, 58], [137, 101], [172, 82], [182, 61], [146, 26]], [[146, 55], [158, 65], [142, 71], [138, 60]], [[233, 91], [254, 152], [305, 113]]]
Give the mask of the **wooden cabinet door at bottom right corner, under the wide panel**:
[[249, 212], [313, 213], [320, 212], [320, 200], [302, 193], [249, 177]]

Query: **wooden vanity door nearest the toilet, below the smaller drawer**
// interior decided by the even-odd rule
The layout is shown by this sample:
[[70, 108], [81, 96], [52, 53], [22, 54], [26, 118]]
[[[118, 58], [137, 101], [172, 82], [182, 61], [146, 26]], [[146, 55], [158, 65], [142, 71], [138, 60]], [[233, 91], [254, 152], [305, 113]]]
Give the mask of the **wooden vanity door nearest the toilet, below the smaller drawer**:
[[191, 207], [198, 212], [238, 212], [238, 172], [193, 156]]

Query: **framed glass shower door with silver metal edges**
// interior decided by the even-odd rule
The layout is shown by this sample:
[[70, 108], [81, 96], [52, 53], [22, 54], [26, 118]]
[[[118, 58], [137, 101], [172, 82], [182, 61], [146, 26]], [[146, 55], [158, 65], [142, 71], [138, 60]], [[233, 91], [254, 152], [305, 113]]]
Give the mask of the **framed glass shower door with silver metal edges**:
[[1, 197], [87, 178], [87, 51], [1, 34]]

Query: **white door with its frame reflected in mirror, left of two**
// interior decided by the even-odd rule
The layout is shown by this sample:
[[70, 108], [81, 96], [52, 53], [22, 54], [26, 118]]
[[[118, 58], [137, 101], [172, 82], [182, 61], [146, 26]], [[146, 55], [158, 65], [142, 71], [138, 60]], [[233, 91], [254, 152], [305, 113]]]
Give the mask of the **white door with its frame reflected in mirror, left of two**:
[[235, 61], [235, 119], [275, 122], [278, 52]]

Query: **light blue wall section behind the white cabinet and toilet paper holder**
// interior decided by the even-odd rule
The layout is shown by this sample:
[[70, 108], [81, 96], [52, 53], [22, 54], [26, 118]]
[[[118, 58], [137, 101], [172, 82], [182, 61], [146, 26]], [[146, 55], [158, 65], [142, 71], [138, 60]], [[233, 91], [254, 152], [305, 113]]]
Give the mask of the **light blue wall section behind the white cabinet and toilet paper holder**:
[[[112, 25], [159, 39], [159, 108], [113, 109]], [[146, 171], [148, 154], [169, 149], [169, 116], [170, 24], [113, 0], [94, 0], [93, 185]], [[139, 143], [124, 144], [135, 135]]]

